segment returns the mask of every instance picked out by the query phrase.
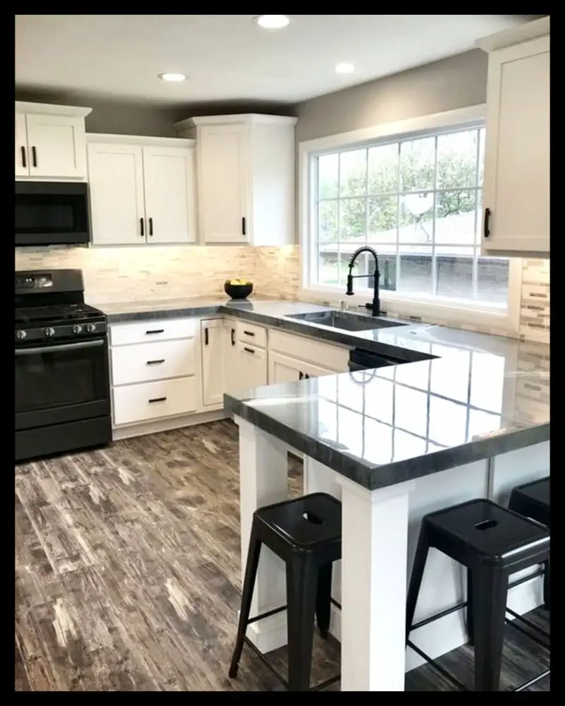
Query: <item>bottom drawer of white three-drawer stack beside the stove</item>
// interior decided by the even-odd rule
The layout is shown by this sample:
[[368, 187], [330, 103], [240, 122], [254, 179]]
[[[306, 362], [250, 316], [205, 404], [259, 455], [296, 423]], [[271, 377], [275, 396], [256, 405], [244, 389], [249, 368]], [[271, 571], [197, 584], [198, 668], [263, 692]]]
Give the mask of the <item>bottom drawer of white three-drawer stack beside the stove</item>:
[[157, 383], [122, 385], [112, 390], [114, 424], [175, 417], [198, 408], [196, 377], [162, 380]]

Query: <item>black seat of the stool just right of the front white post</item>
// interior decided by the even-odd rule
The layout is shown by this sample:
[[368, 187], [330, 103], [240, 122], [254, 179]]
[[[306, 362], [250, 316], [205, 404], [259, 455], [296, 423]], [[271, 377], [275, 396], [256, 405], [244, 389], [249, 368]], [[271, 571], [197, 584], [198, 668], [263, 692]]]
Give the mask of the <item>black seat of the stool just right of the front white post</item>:
[[[537, 522], [521, 517], [490, 500], [477, 499], [453, 505], [426, 516], [429, 532], [448, 535], [453, 549], [488, 563], [513, 561], [528, 547], [549, 546], [549, 532]], [[453, 551], [452, 549], [452, 551]]]

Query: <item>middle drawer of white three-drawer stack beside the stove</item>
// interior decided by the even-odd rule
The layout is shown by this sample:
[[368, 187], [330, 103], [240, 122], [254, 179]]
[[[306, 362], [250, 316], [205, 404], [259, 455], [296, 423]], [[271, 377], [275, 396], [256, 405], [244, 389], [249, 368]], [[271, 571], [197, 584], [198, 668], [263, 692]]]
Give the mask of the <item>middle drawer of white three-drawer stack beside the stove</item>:
[[112, 384], [146, 383], [196, 373], [196, 339], [112, 348]]

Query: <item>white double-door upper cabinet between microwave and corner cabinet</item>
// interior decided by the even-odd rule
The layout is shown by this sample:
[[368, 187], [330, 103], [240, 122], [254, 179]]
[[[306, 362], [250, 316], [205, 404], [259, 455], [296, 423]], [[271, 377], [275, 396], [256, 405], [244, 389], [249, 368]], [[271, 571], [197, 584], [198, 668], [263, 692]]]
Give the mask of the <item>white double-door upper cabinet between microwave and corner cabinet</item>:
[[194, 140], [88, 135], [94, 245], [196, 241]]

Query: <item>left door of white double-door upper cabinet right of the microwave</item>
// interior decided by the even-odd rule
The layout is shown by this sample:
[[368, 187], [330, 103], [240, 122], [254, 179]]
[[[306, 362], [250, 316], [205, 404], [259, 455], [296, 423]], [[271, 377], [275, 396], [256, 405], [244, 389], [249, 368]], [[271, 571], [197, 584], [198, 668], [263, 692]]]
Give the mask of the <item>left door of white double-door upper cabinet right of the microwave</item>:
[[91, 143], [88, 175], [93, 244], [145, 243], [142, 148]]

